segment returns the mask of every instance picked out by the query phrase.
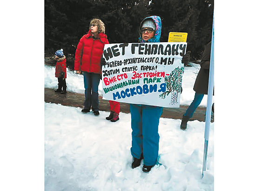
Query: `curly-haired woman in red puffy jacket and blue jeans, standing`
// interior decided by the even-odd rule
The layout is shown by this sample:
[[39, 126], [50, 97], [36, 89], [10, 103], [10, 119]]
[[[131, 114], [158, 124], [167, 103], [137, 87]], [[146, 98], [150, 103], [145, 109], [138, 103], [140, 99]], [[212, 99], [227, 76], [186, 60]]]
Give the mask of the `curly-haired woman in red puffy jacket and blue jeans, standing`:
[[84, 76], [84, 108], [81, 112], [90, 112], [92, 107], [94, 115], [99, 115], [98, 86], [101, 79], [101, 56], [104, 45], [109, 44], [105, 34], [105, 25], [100, 19], [90, 21], [89, 31], [84, 35], [76, 48], [74, 70]]

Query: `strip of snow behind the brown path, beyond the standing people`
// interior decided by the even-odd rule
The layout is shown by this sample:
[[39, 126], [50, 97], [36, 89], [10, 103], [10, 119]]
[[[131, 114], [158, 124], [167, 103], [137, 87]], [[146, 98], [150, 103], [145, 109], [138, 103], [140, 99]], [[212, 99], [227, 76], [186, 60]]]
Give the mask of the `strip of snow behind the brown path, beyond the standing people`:
[[[191, 64], [192, 67], [185, 67], [184, 74], [182, 76], [182, 94], [181, 94], [181, 105], [190, 105], [195, 96], [193, 90], [196, 75], [200, 69], [199, 64]], [[45, 65], [45, 87], [57, 89], [58, 80], [54, 75], [55, 67]], [[67, 69], [67, 91], [84, 94], [83, 76], [76, 74], [74, 71]], [[102, 96], [102, 82], [99, 85], [99, 94]], [[204, 96], [199, 107], [206, 107], [207, 96]]]

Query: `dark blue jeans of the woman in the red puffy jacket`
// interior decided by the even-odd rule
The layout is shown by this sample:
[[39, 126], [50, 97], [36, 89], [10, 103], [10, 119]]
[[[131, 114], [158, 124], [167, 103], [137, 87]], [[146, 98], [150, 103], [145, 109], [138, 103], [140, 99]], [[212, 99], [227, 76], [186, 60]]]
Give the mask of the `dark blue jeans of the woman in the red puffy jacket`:
[[99, 111], [99, 83], [101, 80], [100, 74], [92, 72], [83, 72], [84, 76], [84, 108], [90, 109], [92, 106], [93, 111]]

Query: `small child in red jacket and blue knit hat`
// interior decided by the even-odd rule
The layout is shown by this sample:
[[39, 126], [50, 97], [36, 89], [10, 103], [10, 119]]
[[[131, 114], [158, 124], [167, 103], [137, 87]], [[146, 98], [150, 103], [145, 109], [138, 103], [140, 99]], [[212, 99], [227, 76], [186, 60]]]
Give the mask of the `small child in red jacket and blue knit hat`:
[[62, 49], [55, 52], [54, 59], [57, 60], [56, 67], [55, 67], [55, 77], [58, 78], [58, 89], [55, 89], [54, 91], [61, 92], [61, 94], [66, 94], [67, 93], [67, 84], [66, 84], [67, 65], [66, 65], [66, 57], [63, 54]]

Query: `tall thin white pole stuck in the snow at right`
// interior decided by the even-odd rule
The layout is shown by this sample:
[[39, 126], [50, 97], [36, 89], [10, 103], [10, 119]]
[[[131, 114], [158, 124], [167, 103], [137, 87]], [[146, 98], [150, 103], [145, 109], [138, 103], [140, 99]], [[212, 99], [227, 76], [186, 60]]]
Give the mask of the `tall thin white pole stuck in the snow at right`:
[[206, 163], [207, 163], [213, 86], [214, 86], [214, 13], [213, 13], [213, 22], [212, 22], [212, 41], [211, 41], [211, 57], [210, 57], [210, 68], [209, 68], [208, 96], [207, 96], [206, 118], [205, 118], [205, 127], [204, 127], [204, 151], [203, 151], [203, 163], [202, 163], [202, 176], [203, 176], [203, 172], [206, 171]]

